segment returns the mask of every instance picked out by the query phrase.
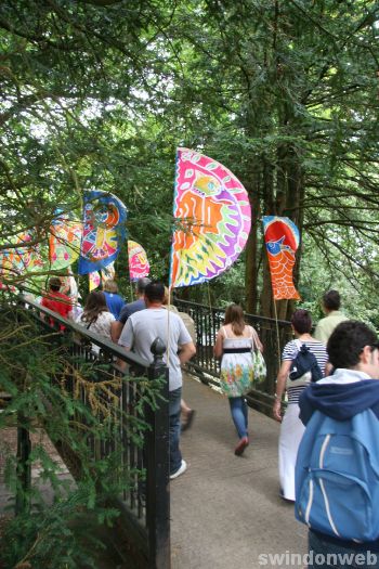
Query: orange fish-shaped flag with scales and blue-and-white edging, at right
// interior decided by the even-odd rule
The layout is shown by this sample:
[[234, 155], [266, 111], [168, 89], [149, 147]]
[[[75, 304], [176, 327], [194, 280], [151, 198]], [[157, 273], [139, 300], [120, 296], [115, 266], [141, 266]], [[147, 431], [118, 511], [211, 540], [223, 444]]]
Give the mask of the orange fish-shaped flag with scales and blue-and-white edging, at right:
[[292, 281], [299, 230], [288, 218], [265, 216], [262, 221], [274, 299], [299, 299]]

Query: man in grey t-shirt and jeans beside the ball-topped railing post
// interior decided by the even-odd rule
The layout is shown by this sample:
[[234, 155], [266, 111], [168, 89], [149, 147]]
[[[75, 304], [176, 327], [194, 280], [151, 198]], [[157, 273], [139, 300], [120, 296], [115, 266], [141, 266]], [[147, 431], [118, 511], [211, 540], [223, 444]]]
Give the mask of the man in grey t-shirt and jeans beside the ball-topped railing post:
[[[186, 470], [186, 463], [182, 460], [179, 448], [181, 364], [187, 362], [196, 353], [196, 349], [182, 319], [162, 308], [164, 299], [165, 286], [158, 282], [149, 283], [145, 288], [146, 309], [128, 318], [118, 344], [149, 362], [153, 362], [151, 346], [157, 337], [169, 346], [170, 478], [177, 478]], [[167, 360], [167, 354], [164, 360]]]

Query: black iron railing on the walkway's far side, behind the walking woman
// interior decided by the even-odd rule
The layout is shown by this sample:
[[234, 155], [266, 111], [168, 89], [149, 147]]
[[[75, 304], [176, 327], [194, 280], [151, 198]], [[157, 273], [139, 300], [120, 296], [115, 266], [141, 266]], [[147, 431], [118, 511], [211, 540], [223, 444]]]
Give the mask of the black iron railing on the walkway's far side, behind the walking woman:
[[[220, 362], [213, 357], [213, 346], [218, 331], [223, 324], [225, 310], [210, 308], [187, 300], [175, 299], [177, 308], [186, 312], [195, 322], [197, 346], [196, 355], [188, 362], [188, 370], [207, 384], [219, 385]], [[263, 355], [267, 376], [259, 389], [252, 389], [247, 397], [251, 406], [271, 414], [275, 380], [280, 366], [280, 354], [285, 344], [291, 339], [291, 326], [287, 321], [245, 314], [245, 320], [258, 332], [263, 344]]]

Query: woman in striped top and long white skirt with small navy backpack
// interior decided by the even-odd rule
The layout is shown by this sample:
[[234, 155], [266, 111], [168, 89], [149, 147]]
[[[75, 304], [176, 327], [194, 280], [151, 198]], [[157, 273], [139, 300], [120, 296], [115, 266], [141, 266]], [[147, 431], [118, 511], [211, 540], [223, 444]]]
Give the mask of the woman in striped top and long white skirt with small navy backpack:
[[[304, 432], [299, 419], [299, 397], [312, 380], [324, 376], [328, 355], [325, 345], [311, 336], [312, 319], [308, 310], [296, 310], [291, 325], [296, 339], [286, 344], [283, 350], [273, 415], [282, 423], [278, 444], [280, 496], [293, 502], [295, 464]], [[282, 416], [282, 399], [286, 391], [288, 404]]]

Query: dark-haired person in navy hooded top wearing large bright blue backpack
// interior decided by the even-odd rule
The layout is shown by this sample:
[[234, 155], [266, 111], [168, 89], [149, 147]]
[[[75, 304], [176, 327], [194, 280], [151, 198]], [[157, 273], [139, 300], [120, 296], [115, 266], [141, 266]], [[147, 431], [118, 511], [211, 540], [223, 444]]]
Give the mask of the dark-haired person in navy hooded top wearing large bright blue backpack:
[[310, 528], [310, 569], [378, 569], [379, 344], [366, 324], [345, 321], [327, 350], [334, 374], [299, 401], [295, 513]]

